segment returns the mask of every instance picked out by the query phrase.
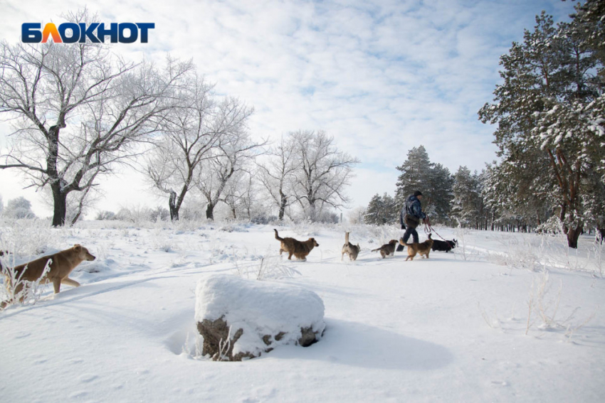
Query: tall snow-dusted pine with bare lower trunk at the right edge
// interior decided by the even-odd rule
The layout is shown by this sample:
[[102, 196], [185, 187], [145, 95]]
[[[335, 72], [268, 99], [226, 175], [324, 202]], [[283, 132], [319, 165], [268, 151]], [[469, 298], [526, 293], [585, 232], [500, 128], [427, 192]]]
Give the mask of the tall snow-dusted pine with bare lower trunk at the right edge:
[[604, 165], [602, 44], [593, 41], [603, 32], [602, 3], [584, 4], [600, 10], [599, 18], [582, 20], [584, 6], [578, 4], [572, 21], [558, 27], [544, 12], [537, 16], [534, 31], [526, 30], [524, 41], [500, 58], [504, 82], [496, 86], [494, 102], [478, 112], [484, 123], [498, 124], [500, 164], [522, 168], [500, 178], [530, 190], [541, 183], [537, 190], [547, 192], [574, 248], [586, 224], [586, 176]]

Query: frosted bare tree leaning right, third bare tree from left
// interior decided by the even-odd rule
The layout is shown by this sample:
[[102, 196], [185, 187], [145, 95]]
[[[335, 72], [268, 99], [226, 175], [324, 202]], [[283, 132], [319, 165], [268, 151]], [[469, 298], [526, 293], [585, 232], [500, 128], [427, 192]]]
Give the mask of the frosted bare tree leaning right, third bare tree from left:
[[[226, 100], [225, 107], [231, 108], [229, 104], [233, 102], [237, 103], [236, 100]], [[263, 145], [265, 142], [258, 144], [250, 139], [245, 122], [242, 122], [241, 127], [221, 138], [212, 151], [212, 158], [204, 161], [204, 166], [196, 179], [196, 187], [208, 203], [206, 218], [214, 220], [214, 208], [217, 203], [225, 201], [225, 191], [229, 182], [258, 155], [258, 150]]]

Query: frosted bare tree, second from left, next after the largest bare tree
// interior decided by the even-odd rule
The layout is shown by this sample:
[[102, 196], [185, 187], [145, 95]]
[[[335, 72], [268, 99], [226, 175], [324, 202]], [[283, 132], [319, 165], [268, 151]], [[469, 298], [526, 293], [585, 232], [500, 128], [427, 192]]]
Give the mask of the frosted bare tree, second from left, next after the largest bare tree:
[[162, 123], [163, 136], [155, 143], [147, 163], [154, 186], [169, 195], [172, 220], [179, 219], [201, 162], [212, 158], [210, 151], [245, 124], [253, 112], [238, 100], [215, 102], [211, 89], [202, 78], [191, 74], [177, 94], [181, 106], [172, 109]]

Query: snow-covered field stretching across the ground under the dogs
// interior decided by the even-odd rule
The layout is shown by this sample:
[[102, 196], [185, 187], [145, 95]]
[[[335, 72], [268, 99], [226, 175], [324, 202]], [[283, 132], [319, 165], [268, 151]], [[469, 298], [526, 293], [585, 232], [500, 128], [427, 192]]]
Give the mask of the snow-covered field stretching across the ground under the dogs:
[[[436, 228], [455, 253], [405, 262], [370, 249], [395, 227], [291, 225], [307, 262], [278, 257], [273, 226], [19, 221], [17, 263], [88, 247], [97, 259], [53, 296], [0, 312], [1, 402], [603, 402], [605, 251], [582, 237]], [[344, 231], [359, 242], [340, 260]], [[421, 240], [426, 235], [421, 233]], [[261, 263], [262, 262], [262, 263]], [[308, 348], [214, 362], [197, 353], [199, 279], [293, 284], [325, 304]]]

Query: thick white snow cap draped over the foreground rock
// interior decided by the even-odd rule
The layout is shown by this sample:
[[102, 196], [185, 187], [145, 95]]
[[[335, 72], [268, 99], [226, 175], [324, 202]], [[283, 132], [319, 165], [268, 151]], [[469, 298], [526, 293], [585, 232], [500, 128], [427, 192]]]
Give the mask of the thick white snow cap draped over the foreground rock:
[[324, 331], [324, 304], [317, 294], [297, 286], [241, 279], [215, 274], [198, 281], [196, 323], [223, 318], [232, 333], [243, 330], [233, 345], [233, 355], [261, 355], [267, 345], [263, 335], [285, 333], [273, 345], [296, 344], [301, 328], [311, 327], [321, 338]]

